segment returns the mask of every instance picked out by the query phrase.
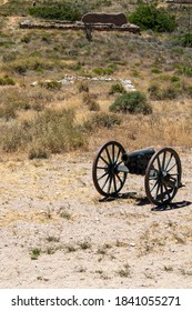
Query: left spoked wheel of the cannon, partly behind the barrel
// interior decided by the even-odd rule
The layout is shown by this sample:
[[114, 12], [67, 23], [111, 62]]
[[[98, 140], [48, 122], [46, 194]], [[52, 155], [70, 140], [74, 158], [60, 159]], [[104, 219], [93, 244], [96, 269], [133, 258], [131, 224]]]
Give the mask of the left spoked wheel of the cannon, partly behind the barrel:
[[122, 189], [127, 171], [118, 168], [122, 163], [124, 148], [117, 141], [104, 143], [95, 154], [92, 165], [93, 183], [98, 192], [104, 197], [115, 197]]

